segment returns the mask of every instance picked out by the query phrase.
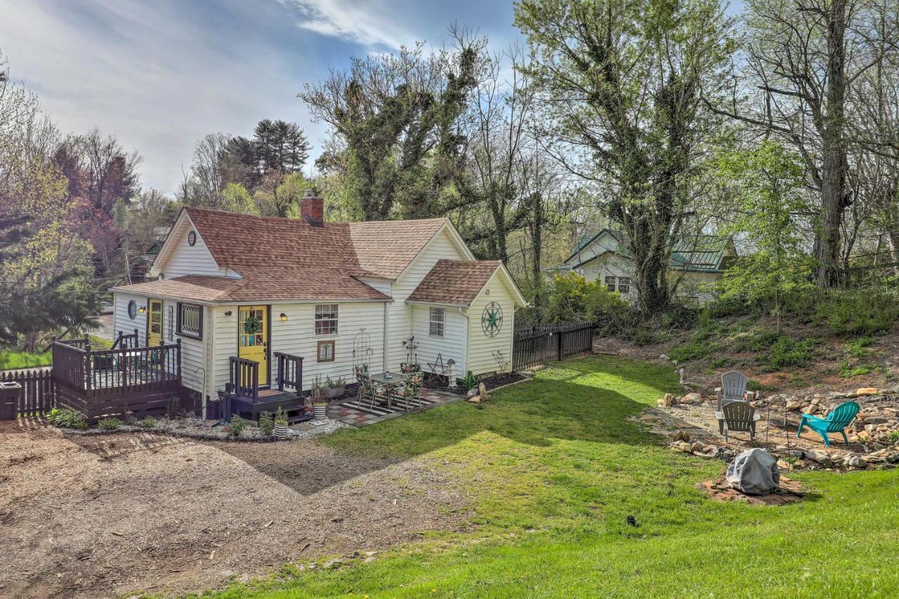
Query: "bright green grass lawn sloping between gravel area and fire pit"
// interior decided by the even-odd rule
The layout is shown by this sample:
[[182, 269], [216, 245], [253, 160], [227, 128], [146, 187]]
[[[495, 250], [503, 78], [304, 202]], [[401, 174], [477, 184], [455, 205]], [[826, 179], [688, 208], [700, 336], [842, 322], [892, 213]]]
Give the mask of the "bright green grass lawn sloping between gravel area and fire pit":
[[671, 451], [627, 420], [676, 382], [670, 368], [596, 357], [481, 407], [334, 434], [325, 443], [349, 454], [426, 454], [474, 497], [476, 526], [220, 596], [899, 594], [896, 470], [802, 475], [815, 493], [798, 505], [711, 502], [696, 484], [722, 462]]

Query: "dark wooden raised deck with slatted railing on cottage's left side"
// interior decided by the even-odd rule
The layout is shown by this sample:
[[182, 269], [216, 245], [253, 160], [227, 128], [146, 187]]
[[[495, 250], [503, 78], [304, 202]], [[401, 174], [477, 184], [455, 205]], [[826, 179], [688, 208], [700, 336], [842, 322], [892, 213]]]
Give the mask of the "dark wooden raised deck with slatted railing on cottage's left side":
[[72, 407], [93, 421], [129, 412], [163, 414], [174, 395], [186, 397], [181, 384], [181, 340], [155, 347], [118, 345], [93, 351], [86, 339], [54, 343], [57, 405]]

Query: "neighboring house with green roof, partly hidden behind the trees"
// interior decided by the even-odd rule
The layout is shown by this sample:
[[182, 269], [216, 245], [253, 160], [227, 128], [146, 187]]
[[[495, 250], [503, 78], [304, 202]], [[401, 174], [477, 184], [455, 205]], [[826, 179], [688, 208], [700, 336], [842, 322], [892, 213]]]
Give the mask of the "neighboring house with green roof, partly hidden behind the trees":
[[[700, 235], [681, 239], [672, 248], [668, 282], [678, 282], [677, 295], [706, 303], [713, 299], [709, 284], [721, 278], [736, 257], [731, 237]], [[556, 272], [574, 271], [588, 281], [599, 281], [610, 291], [618, 291], [629, 302], [636, 300], [634, 262], [624, 233], [603, 228], [599, 233], [582, 236]]]

